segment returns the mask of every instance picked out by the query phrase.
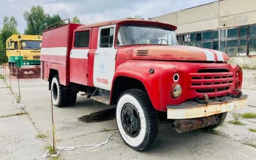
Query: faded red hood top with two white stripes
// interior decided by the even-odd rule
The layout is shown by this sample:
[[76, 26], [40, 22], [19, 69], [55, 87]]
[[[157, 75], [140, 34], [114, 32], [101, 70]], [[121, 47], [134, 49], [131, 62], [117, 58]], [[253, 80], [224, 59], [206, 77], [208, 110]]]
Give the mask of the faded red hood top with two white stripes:
[[174, 61], [222, 61], [227, 62], [225, 52], [182, 45], [155, 45], [136, 47], [132, 50], [133, 60], [174, 60]]

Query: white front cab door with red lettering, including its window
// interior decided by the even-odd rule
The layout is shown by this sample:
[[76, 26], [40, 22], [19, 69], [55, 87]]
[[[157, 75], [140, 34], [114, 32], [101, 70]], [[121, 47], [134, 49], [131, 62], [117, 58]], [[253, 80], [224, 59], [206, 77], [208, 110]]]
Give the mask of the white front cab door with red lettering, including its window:
[[93, 63], [93, 84], [97, 88], [111, 90], [115, 73], [115, 59], [117, 49], [114, 47], [116, 25], [99, 28], [97, 50]]

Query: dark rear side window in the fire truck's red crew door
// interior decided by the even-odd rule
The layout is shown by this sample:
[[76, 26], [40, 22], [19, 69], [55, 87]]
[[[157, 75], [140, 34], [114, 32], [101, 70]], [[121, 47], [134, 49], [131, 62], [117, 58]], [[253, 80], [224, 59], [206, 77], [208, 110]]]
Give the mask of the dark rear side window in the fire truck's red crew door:
[[81, 31], [75, 34], [75, 47], [89, 47], [90, 31]]

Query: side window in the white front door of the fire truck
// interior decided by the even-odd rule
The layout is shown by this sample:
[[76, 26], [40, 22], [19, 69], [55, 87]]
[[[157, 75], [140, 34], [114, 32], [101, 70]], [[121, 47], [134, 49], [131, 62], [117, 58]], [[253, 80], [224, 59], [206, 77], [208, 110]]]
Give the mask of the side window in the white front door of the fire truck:
[[100, 31], [100, 47], [113, 46], [114, 28], [101, 29]]

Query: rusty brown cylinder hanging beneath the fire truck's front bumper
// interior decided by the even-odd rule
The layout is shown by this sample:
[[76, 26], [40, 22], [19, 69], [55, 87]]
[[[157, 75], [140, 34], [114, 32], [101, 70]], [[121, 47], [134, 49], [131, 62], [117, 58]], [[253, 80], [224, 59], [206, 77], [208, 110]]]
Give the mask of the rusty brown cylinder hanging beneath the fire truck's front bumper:
[[207, 127], [209, 125], [217, 124], [219, 120], [220, 119], [218, 118], [217, 115], [202, 118], [175, 120], [171, 124], [171, 127], [172, 129], [175, 129], [175, 131], [179, 133], [188, 132], [193, 131], [195, 129]]

